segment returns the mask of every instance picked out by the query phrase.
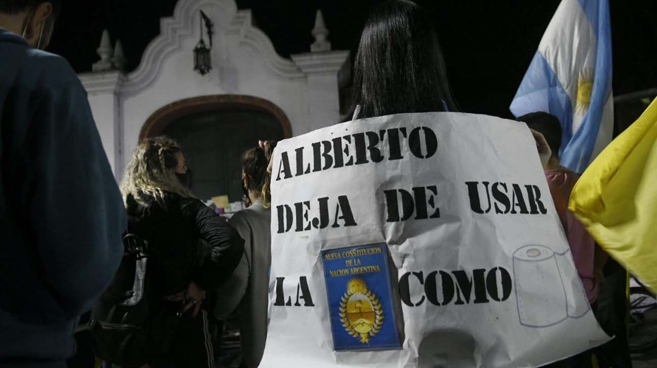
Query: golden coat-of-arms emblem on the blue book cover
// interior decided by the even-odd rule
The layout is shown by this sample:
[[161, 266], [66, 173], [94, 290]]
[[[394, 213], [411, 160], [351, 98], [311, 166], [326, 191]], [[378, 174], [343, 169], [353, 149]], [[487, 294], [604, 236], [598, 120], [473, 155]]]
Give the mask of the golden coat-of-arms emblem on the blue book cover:
[[383, 326], [381, 303], [359, 278], [352, 278], [347, 284], [347, 291], [340, 301], [340, 322], [363, 344], [367, 344]]

